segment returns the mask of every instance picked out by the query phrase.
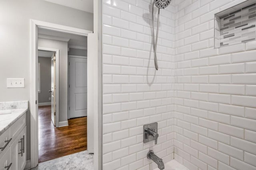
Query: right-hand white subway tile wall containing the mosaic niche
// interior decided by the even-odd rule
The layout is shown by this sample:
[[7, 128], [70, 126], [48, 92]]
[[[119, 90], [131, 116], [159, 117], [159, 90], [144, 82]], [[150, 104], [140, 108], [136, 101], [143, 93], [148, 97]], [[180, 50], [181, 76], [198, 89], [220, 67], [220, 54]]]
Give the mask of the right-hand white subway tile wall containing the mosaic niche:
[[174, 159], [190, 170], [256, 170], [256, 41], [212, 43], [214, 14], [244, 1], [172, 1]]

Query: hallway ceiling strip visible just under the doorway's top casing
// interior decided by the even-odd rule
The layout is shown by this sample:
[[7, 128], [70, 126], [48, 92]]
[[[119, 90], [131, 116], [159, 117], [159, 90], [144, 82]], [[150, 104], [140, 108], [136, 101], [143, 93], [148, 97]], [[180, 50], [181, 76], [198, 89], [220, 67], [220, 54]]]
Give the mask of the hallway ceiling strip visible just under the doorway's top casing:
[[87, 37], [84, 37], [82, 35], [74, 35], [74, 34], [69, 34], [69, 33], [62, 33], [58, 31], [52, 31], [49, 29], [38, 29], [38, 34], [42, 35], [50, 35], [53, 37], [57, 37], [60, 39], [70, 39], [68, 41], [68, 47], [70, 46], [80, 46], [80, 47], [87, 47]]

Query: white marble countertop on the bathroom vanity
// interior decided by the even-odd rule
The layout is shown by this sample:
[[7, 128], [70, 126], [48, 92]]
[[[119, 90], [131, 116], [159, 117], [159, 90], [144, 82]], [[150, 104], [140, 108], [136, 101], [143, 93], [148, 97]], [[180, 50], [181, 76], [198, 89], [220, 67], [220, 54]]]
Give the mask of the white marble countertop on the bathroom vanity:
[[[23, 108], [22, 108], [23, 107]], [[0, 135], [28, 111], [28, 101], [0, 103]], [[7, 114], [1, 114], [7, 113]]]

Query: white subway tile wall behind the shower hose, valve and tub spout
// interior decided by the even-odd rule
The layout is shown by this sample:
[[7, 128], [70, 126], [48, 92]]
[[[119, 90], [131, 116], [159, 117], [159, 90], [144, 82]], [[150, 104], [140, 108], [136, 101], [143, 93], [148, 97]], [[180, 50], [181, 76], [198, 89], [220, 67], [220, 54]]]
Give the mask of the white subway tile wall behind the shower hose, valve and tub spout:
[[[174, 158], [172, 56], [176, 11], [172, 5], [160, 10], [156, 71], [151, 0], [103, 1], [104, 170], [156, 168], [146, 158], [149, 150], [154, 150], [164, 162]], [[156, 21], [157, 13], [154, 17]], [[186, 63], [181, 65], [187, 67]], [[184, 92], [179, 95], [186, 96]], [[144, 144], [143, 125], [153, 122], [158, 122], [158, 143]]]

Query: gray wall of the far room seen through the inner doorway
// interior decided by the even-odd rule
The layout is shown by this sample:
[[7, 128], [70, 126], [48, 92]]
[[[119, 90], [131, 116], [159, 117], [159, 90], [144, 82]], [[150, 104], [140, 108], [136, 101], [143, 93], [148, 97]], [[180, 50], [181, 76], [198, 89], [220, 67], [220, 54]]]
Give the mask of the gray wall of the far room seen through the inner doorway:
[[41, 92], [38, 93], [38, 103], [51, 102], [51, 58], [50, 57], [38, 57], [38, 63], [40, 63], [40, 88]]

